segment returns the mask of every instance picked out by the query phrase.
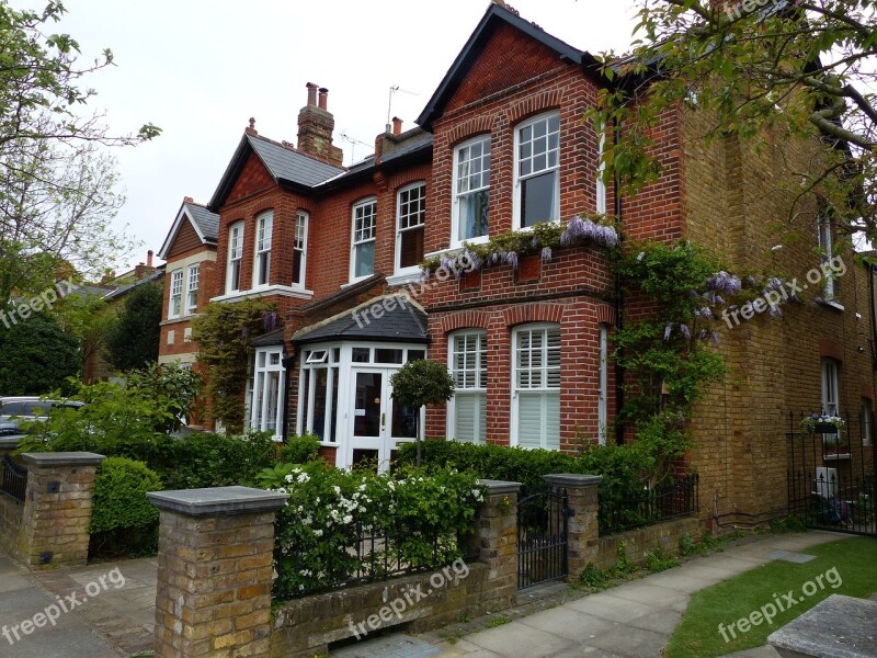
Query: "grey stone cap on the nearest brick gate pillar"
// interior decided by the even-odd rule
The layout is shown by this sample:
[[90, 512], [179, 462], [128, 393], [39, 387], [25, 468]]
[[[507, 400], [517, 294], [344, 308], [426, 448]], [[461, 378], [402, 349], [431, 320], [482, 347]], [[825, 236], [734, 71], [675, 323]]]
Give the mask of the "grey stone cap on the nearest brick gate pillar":
[[147, 497], [153, 507], [186, 517], [228, 517], [272, 512], [282, 508], [289, 498], [286, 494], [250, 487], [150, 491]]

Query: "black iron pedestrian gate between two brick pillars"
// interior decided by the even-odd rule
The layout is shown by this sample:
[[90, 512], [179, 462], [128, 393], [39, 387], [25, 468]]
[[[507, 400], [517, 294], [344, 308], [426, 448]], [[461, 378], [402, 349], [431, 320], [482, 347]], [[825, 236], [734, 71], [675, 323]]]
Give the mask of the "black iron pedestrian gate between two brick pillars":
[[517, 588], [566, 578], [569, 497], [550, 486], [517, 502]]

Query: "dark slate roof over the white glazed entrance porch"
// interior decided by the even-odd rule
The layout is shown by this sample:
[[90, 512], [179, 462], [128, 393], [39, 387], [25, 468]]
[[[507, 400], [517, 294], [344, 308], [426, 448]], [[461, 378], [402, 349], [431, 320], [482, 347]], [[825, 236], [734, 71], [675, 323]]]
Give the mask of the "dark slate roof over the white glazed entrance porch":
[[378, 342], [430, 342], [426, 331], [426, 314], [419, 306], [401, 303], [397, 297], [395, 307], [387, 309], [380, 318], [369, 311], [375, 304], [380, 304], [391, 296], [378, 297], [353, 310], [339, 315], [334, 320], [316, 329], [299, 330], [293, 336], [296, 344], [306, 344], [330, 340], [368, 340]]

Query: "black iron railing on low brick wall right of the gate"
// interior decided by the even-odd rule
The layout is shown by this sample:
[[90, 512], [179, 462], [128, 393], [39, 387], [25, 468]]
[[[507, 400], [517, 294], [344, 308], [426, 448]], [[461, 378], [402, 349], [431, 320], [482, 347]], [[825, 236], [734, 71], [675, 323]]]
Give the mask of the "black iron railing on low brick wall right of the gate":
[[626, 530], [653, 525], [688, 517], [701, 510], [697, 474], [675, 478], [675, 481], [646, 490], [641, 496], [625, 498], [601, 506], [600, 534], [610, 535]]

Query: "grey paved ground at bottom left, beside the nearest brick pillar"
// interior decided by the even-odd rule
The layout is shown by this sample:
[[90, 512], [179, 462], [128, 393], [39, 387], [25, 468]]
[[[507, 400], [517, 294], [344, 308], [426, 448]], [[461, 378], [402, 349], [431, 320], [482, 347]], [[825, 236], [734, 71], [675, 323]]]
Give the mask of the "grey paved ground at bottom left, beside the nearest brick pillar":
[[[0, 657], [117, 658], [151, 649], [156, 570], [155, 559], [135, 559], [31, 572], [0, 554]], [[124, 586], [116, 588], [119, 574]], [[54, 614], [61, 602], [71, 610], [53, 625], [46, 610]]]

